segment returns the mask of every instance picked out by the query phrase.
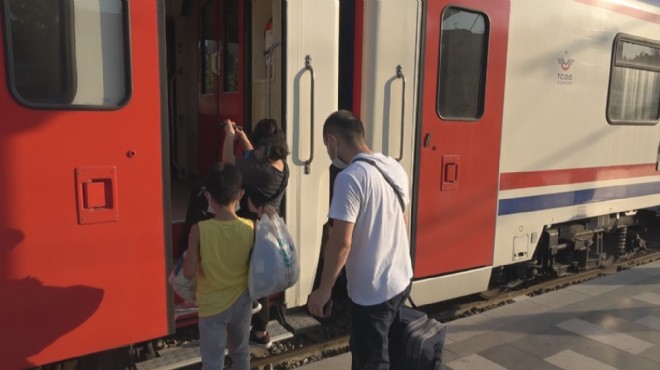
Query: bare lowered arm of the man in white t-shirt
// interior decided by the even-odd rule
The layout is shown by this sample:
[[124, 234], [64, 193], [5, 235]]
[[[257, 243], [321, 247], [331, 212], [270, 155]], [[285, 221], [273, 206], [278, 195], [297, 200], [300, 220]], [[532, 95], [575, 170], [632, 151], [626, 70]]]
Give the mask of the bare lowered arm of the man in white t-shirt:
[[354, 226], [350, 222], [334, 221], [330, 238], [325, 246], [321, 284], [312, 292], [307, 302], [307, 307], [312, 315], [323, 317], [323, 306], [330, 300], [332, 287], [351, 251]]

